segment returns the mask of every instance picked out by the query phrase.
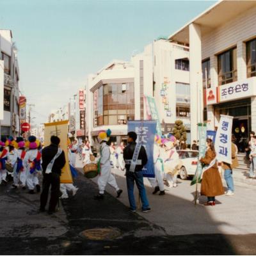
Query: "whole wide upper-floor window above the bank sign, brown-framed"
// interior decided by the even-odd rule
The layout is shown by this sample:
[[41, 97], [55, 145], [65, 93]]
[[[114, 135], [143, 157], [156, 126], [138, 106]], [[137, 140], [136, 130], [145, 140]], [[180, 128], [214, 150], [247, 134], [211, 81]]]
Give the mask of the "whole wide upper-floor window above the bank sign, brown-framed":
[[237, 81], [237, 49], [236, 47], [218, 55], [218, 84]]

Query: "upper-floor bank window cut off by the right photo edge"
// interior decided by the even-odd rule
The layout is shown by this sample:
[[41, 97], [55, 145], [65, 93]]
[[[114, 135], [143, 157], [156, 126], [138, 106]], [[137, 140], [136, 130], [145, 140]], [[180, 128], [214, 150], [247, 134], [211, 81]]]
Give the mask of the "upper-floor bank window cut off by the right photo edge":
[[256, 38], [246, 43], [247, 77], [256, 76]]

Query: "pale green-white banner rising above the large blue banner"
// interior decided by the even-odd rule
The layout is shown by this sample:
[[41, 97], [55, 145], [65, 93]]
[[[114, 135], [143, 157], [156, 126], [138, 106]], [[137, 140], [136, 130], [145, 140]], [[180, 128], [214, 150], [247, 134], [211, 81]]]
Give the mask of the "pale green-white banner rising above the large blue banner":
[[147, 118], [148, 120], [156, 120], [156, 132], [159, 136], [162, 136], [161, 124], [159, 121], [159, 115], [156, 107], [156, 100], [154, 97], [144, 96]]

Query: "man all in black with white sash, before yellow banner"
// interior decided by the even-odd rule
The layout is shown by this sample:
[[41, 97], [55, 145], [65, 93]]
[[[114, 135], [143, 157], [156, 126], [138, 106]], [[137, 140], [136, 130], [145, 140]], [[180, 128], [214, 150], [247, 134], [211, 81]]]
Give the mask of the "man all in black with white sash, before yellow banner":
[[43, 168], [43, 190], [40, 197], [40, 211], [45, 211], [48, 192], [51, 185], [51, 199], [49, 202], [49, 214], [52, 214], [58, 203], [60, 193], [60, 175], [61, 169], [65, 166], [65, 153], [59, 147], [60, 138], [51, 136], [51, 145], [42, 150], [42, 168]]

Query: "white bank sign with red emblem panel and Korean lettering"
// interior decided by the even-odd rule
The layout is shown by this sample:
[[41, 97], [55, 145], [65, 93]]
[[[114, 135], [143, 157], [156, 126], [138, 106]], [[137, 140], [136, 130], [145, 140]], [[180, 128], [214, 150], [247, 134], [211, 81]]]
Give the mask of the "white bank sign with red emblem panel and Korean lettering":
[[217, 88], [208, 88], [206, 93], [207, 105], [248, 98], [256, 95], [256, 77], [244, 81], [223, 84]]

